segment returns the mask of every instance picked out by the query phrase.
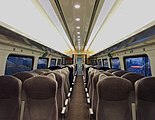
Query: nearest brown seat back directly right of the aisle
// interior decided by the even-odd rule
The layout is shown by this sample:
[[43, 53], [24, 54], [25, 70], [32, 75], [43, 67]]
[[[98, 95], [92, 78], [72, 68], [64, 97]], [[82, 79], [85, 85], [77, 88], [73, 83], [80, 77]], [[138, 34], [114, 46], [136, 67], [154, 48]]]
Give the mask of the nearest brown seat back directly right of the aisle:
[[97, 83], [96, 120], [131, 120], [130, 81], [120, 77], [105, 77]]

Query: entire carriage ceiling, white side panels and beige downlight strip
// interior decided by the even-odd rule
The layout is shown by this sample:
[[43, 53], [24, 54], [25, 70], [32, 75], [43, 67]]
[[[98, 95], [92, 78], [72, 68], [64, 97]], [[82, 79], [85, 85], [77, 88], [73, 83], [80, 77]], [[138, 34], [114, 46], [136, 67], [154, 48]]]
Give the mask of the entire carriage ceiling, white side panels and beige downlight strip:
[[3, 0], [0, 25], [56, 51], [90, 55], [155, 25], [154, 11], [154, 0]]

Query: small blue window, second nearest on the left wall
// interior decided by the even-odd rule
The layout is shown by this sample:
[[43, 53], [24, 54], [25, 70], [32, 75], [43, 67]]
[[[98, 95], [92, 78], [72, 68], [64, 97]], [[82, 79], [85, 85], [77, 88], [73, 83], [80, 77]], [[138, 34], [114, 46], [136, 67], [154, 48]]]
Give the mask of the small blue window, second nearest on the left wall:
[[44, 69], [48, 66], [48, 59], [47, 58], [39, 58], [37, 69]]

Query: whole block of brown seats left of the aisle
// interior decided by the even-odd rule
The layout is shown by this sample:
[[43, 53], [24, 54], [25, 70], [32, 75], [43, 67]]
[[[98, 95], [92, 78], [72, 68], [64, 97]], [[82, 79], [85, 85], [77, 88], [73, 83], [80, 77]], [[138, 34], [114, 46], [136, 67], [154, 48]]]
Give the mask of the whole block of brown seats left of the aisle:
[[70, 65], [0, 76], [0, 120], [64, 119], [76, 79], [70, 80], [74, 69]]

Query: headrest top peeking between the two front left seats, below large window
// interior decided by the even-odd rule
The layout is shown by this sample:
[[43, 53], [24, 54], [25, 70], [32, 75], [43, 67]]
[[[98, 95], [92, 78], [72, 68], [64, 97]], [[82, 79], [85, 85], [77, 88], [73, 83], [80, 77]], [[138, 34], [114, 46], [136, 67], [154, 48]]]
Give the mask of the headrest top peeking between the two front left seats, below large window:
[[17, 77], [22, 82], [24, 82], [26, 79], [34, 77], [36, 75], [33, 74], [32, 72], [18, 72], [18, 73], [13, 74], [13, 76]]

